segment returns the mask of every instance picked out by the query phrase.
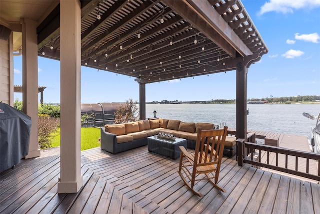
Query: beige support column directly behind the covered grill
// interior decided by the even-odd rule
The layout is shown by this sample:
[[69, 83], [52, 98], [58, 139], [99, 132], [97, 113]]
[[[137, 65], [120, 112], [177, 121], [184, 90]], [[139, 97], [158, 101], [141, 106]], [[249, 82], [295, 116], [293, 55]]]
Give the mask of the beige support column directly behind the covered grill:
[[22, 111], [31, 117], [29, 152], [25, 158], [40, 156], [38, 143], [38, 56], [36, 22], [21, 19], [22, 25]]

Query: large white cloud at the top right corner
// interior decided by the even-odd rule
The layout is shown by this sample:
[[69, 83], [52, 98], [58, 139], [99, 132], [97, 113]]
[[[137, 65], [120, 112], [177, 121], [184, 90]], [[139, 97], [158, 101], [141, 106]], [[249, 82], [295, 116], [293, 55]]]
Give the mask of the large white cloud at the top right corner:
[[293, 13], [293, 10], [314, 9], [320, 7], [320, 0], [269, 0], [259, 11], [259, 15], [268, 12], [277, 12], [282, 14]]

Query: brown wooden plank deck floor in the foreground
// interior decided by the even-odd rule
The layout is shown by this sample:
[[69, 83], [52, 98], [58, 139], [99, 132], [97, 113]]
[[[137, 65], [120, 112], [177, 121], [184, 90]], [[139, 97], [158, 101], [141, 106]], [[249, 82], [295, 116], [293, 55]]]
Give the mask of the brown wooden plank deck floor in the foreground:
[[0, 174], [0, 213], [318, 213], [320, 185], [223, 157], [220, 192], [201, 181], [195, 196], [181, 181], [178, 160], [147, 147], [110, 154], [82, 151], [84, 185], [57, 194], [59, 148], [22, 160]]

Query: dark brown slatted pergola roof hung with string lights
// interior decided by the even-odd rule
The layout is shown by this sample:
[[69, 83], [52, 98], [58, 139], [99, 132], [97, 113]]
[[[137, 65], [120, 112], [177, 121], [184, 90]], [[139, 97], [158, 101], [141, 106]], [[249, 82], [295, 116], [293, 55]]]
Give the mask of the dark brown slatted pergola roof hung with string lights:
[[[138, 83], [235, 70], [268, 51], [237, 0], [80, 2], [81, 65]], [[38, 55], [59, 59], [59, 5], [37, 34]]]

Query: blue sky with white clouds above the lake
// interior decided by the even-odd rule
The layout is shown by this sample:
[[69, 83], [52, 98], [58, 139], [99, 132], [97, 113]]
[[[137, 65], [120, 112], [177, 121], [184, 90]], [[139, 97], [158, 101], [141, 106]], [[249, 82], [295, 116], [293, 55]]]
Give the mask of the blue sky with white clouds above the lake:
[[[242, 0], [268, 47], [251, 65], [247, 98], [320, 94], [320, 1]], [[21, 56], [13, 58], [14, 85], [22, 85]], [[59, 61], [38, 57], [45, 103], [60, 102]], [[146, 84], [146, 101], [235, 99], [235, 71]], [[22, 100], [21, 93], [14, 99]], [[40, 99], [40, 98], [39, 98]], [[81, 67], [81, 103], [139, 100], [134, 78]]]

